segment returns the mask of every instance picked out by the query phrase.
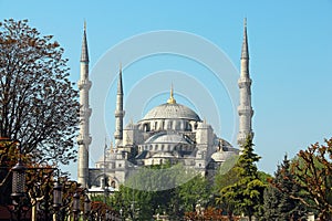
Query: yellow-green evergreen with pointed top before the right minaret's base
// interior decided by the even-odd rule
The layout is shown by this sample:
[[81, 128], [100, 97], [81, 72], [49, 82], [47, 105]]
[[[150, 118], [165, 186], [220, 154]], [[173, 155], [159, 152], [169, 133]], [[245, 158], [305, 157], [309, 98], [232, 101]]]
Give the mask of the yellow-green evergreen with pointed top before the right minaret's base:
[[239, 180], [220, 189], [219, 202], [232, 202], [236, 211], [243, 212], [251, 221], [262, 209], [266, 185], [259, 179], [257, 162], [260, 157], [253, 152], [252, 139], [248, 137], [241, 145], [241, 155], [235, 168]]

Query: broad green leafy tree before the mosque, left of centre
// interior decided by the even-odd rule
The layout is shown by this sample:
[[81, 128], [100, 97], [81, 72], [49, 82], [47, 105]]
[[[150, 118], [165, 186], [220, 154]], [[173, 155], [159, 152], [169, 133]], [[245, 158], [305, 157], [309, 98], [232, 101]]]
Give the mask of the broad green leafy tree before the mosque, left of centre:
[[[112, 206], [126, 218], [151, 220], [154, 214], [172, 213], [175, 186], [184, 173], [183, 166], [170, 164], [143, 167], [132, 173], [120, 191], [112, 196]], [[118, 206], [121, 204], [121, 207]]]

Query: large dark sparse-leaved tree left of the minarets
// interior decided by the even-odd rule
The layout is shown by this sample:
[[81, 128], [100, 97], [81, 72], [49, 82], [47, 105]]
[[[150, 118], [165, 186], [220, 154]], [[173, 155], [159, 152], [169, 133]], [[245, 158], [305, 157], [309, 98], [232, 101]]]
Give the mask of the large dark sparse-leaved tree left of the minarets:
[[20, 140], [34, 160], [75, 159], [79, 103], [66, 62], [28, 20], [0, 22], [0, 136]]

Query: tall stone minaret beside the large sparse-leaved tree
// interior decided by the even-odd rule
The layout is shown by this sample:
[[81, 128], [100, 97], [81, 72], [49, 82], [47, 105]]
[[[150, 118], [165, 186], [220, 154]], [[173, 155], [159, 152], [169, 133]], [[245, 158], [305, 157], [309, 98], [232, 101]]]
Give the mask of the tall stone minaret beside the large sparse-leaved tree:
[[86, 42], [86, 24], [84, 22], [82, 52], [81, 52], [81, 77], [77, 83], [80, 90], [80, 134], [77, 137], [79, 144], [79, 171], [77, 182], [83, 188], [89, 185], [89, 146], [91, 144], [90, 136], [90, 116], [91, 108], [89, 107], [89, 91], [91, 81], [89, 80], [89, 53]]

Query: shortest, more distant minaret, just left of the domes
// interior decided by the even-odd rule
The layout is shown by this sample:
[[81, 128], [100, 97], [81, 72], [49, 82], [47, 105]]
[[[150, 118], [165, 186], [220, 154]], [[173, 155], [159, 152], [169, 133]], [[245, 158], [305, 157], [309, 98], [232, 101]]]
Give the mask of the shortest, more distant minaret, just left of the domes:
[[120, 145], [123, 138], [123, 117], [125, 112], [123, 110], [123, 86], [122, 86], [122, 65], [120, 64], [117, 93], [116, 93], [116, 108], [115, 108], [115, 146]]

